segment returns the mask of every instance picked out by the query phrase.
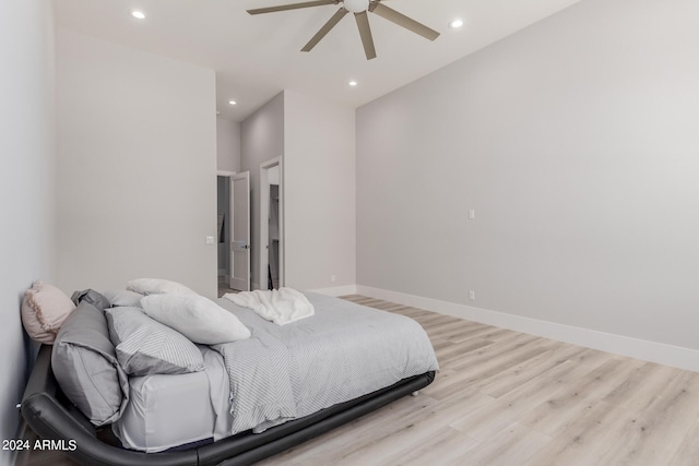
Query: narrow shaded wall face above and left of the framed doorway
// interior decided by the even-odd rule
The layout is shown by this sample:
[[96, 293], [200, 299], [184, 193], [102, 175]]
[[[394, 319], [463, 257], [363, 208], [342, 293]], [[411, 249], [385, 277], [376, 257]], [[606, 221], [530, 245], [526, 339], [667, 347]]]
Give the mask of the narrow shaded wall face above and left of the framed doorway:
[[252, 287], [259, 277], [260, 164], [284, 155], [284, 93], [260, 107], [240, 123], [240, 171], [250, 171], [250, 230]]

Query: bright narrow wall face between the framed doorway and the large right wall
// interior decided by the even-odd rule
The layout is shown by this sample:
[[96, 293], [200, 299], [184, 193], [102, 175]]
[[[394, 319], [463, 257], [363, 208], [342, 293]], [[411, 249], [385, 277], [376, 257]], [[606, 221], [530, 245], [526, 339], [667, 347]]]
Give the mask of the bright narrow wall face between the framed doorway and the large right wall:
[[322, 289], [356, 283], [354, 113], [284, 92], [287, 286]]

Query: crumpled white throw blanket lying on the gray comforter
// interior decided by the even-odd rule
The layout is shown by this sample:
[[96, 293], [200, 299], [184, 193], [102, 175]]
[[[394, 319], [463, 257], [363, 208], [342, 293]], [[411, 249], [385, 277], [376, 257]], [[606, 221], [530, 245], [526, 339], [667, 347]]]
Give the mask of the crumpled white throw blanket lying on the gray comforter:
[[286, 325], [313, 315], [313, 304], [300, 291], [293, 288], [228, 292], [224, 298], [252, 309], [262, 319], [277, 325]]

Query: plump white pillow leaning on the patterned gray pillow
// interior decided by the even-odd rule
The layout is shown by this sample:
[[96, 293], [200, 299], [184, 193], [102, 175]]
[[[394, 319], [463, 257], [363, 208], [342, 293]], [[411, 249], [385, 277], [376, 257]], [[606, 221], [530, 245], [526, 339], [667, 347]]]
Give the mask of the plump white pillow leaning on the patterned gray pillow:
[[141, 307], [151, 318], [202, 345], [250, 337], [238, 318], [203, 296], [150, 295], [141, 299]]

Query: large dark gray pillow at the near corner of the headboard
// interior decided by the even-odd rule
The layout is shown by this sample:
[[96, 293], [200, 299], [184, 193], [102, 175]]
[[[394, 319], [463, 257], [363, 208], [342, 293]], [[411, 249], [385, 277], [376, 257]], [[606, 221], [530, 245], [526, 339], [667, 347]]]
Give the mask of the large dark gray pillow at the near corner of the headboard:
[[102, 311], [82, 301], [58, 332], [51, 366], [59, 386], [95, 426], [121, 417], [129, 380], [119, 366]]

